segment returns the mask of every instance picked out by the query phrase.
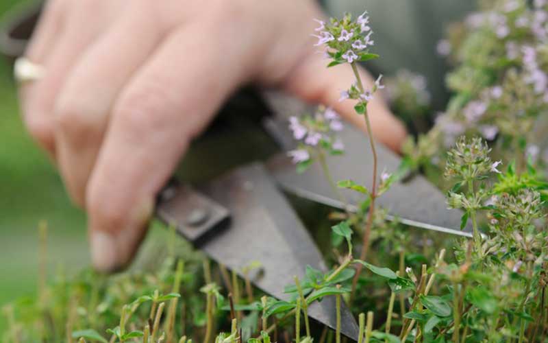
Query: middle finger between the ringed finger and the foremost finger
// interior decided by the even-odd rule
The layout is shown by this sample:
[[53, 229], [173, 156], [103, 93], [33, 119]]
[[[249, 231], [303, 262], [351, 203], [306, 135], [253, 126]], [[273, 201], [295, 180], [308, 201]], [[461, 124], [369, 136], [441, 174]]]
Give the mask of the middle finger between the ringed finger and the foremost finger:
[[61, 88], [54, 110], [56, 158], [66, 189], [79, 206], [84, 207], [112, 104], [160, 39], [149, 14], [133, 11], [79, 58]]

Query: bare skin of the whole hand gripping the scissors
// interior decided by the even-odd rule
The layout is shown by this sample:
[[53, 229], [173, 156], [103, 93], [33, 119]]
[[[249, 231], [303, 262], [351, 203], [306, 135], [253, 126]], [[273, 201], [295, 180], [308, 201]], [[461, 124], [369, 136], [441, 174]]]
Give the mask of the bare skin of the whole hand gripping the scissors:
[[[326, 69], [313, 46], [322, 17], [310, 0], [47, 2], [26, 54], [47, 73], [21, 86], [23, 120], [88, 213], [97, 270], [131, 261], [155, 194], [242, 84], [332, 106], [364, 128], [353, 102], [338, 102], [351, 68]], [[405, 129], [375, 97], [375, 138], [398, 150]]]

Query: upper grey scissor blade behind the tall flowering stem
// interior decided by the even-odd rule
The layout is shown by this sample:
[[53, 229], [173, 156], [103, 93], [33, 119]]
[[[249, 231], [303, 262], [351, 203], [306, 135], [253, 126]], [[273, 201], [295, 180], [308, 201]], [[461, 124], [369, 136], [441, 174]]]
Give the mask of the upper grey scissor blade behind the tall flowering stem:
[[[299, 104], [294, 100], [292, 105], [288, 105], [291, 101], [287, 97], [273, 99], [272, 95], [268, 95], [267, 99], [271, 106], [275, 107], [275, 113], [288, 113], [288, 110], [299, 108]], [[284, 107], [280, 108], [280, 106]], [[303, 110], [302, 105], [299, 110]], [[285, 151], [295, 148], [296, 143], [288, 130], [286, 119], [283, 117], [266, 119], [265, 127]], [[345, 154], [327, 157], [327, 165], [332, 177], [334, 180], [350, 179], [371, 189], [373, 154], [364, 133], [346, 126], [340, 132], [340, 138], [345, 144]], [[377, 144], [377, 156], [380, 170], [396, 171], [401, 162], [399, 156], [382, 144]], [[305, 173], [298, 174], [295, 165], [290, 163], [290, 159], [285, 154], [279, 154], [271, 158], [267, 167], [285, 191], [314, 202], [344, 209], [343, 202], [339, 200], [327, 182], [319, 163], [314, 163]], [[349, 204], [358, 204], [360, 200], [363, 200], [363, 196], [355, 191], [341, 189], [341, 193]], [[414, 176], [408, 182], [393, 184], [377, 199], [377, 204], [388, 210], [389, 220], [397, 219], [403, 224], [416, 228], [472, 237], [469, 226], [466, 226], [463, 231], [456, 229], [460, 227], [462, 213], [447, 209], [443, 193], [422, 176]], [[354, 207], [353, 210], [356, 208]]]

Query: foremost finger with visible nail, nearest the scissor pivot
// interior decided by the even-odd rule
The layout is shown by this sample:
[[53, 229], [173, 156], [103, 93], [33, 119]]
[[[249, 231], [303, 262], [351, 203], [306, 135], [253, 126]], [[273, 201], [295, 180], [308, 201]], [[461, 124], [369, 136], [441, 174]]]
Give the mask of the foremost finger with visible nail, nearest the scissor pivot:
[[232, 52], [216, 54], [229, 49], [212, 32], [201, 22], [175, 31], [116, 102], [86, 192], [92, 261], [99, 270], [115, 270], [132, 258], [155, 194], [240, 82], [240, 71], [227, 67], [238, 61]]

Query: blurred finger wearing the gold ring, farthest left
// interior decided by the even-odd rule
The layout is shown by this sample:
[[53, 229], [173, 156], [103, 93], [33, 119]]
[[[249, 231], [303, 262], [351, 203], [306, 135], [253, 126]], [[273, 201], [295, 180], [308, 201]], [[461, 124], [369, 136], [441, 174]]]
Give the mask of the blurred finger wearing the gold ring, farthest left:
[[[45, 75], [21, 88], [23, 117], [29, 132], [52, 156], [55, 99], [78, 56], [108, 27], [100, 3], [104, 1], [82, 1], [77, 10], [71, 10], [68, 2], [55, 0], [52, 13], [46, 16], [29, 49], [29, 58], [44, 66]], [[62, 30], [58, 16], [62, 18]]]

